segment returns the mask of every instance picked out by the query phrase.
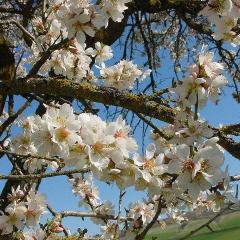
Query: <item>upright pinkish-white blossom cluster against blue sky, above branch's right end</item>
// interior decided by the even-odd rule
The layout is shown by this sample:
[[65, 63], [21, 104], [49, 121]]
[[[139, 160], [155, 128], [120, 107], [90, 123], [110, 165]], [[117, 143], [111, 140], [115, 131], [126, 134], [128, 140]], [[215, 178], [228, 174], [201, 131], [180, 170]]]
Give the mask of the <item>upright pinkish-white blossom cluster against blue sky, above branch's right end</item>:
[[188, 69], [189, 76], [172, 89], [177, 94], [178, 104], [182, 109], [196, 104], [203, 107], [208, 97], [217, 103], [221, 88], [227, 84], [222, 75], [224, 65], [214, 62], [214, 53], [206, 50], [206, 46], [203, 46], [197, 63]]

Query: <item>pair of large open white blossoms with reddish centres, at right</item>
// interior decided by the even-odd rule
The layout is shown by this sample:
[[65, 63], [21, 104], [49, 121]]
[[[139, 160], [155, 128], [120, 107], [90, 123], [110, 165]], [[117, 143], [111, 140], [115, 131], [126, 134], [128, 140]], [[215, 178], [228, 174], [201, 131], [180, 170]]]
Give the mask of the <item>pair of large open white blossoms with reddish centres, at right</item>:
[[193, 157], [190, 147], [182, 144], [167, 153], [167, 157], [170, 159], [168, 172], [178, 174], [177, 184], [183, 190], [188, 189], [193, 200], [200, 191], [209, 189], [222, 179], [220, 168], [224, 156], [216, 144], [202, 145]]

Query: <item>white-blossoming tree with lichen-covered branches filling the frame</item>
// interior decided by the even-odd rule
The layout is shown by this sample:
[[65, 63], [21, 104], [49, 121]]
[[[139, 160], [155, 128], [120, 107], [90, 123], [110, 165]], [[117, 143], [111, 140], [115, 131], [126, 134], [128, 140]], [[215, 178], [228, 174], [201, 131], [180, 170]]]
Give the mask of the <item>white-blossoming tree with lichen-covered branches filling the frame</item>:
[[[182, 223], [236, 201], [238, 176], [222, 165], [224, 151], [240, 159], [240, 125], [210, 126], [200, 111], [226, 85], [240, 101], [239, 0], [5, 0], [0, 12], [0, 153], [12, 164], [0, 239], [141, 240], [161, 215]], [[140, 122], [152, 130], [143, 154]], [[86, 212], [56, 212], [38, 191], [62, 175]], [[96, 179], [119, 188], [117, 206]], [[124, 210], [130, 186], [146, 198]], [[101, 234], [70, 233], [69, 216]]]

